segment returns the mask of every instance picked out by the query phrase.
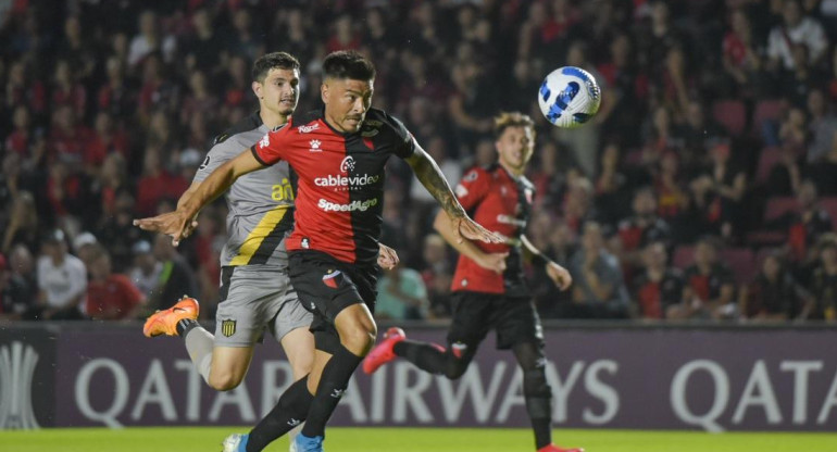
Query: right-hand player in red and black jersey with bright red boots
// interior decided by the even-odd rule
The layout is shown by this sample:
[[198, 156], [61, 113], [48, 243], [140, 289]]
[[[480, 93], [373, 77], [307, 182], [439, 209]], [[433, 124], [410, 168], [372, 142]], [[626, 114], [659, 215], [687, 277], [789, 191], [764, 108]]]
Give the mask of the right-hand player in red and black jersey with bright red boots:
[[401, 328], [392, 327], [366, 356], [363, 369], [372, 374], [401, 356], [423, 371], [457, 379], [467, 369], [488, 331], [495, 329], [497, 347], [511, 349], [523, 369], [523, 393], [538, 452], [582, 452], [552, 444], [552, 390], [546, 376], [544, 332], [523, 277], [523, 260], [527, 259], [545, 266], [561, 290], [572, 284], [570, 273], [544, 256], [524, 235], [535, 191], [524, 176], [535, 149], [535, 125], [524, 114], [502, 113], [495, 118], [495, 135], [498, 163], [472, 170], [455, 191], [474, 219], [505, 236], [505, 242], [459, 240], [441, 211], [434, 222], [436, 230], [460, 252], [451, 288], [454, 307], [447, 349], [407, 340]]

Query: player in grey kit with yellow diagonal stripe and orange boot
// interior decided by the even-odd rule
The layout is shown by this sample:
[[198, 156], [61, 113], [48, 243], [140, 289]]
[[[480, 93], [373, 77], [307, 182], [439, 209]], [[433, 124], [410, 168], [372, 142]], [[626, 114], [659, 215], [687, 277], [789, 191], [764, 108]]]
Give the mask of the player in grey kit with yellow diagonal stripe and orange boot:
[[[252, 89], [259, 110], [217, 136], [178, 204], [242, 148], [283, 126], [299, 100], [299, 62], [286, 52], [268, 53], [253, 63]], [[253, 346], [264, 329], [279, 341], [295, 381], [311, 372], [313, 318], [290, 285], [284, 237], [292, 227], [295, 190], [287, 162], [240, 177], [226, 193], [227, 242], [221, 256], [221, 300], [215, 334], [196, 321], [198, 302], [184, 298], [148, 318], [146, 336], [180, 336], [198, 373], [220, 391], [236, 388], [250, 365]], [[193, 228], [196, 223], [189, 225]], [[378, 265], [392, 267], [398, 256], [380, 246]]]

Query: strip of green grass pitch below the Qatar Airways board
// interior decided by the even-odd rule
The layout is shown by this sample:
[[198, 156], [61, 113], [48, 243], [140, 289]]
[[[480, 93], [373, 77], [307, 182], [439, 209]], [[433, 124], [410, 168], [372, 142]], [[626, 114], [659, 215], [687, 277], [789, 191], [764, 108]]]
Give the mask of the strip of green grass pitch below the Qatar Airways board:
[[[241, 427], [170, 427], [43, 429], [0, 431], [0, 450], [9, 452], [208, 452]], [[555, 430], [561, 445], [587, 452], [761, 452], [837, 451], [837, 434], [703, 434], [691, 431]], [[266, 449], [288, 450], [286, 439]], [[527, 429], [330, 428], [328, 452], [532, 452]]]

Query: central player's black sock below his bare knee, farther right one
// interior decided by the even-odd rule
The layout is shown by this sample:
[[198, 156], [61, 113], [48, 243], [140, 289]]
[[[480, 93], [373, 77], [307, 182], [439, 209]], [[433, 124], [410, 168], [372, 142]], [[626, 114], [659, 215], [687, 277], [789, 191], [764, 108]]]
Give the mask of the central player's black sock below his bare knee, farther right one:
[[328, 360], [320, 377], [316, 395], [311, 402], [302, 435], [307, 437], [325, 436], [325, 424], [332, 417], [334, 409], [342, 397], [352, 373], [363, 360], [362, 356], [350, 352], [340, 346]]

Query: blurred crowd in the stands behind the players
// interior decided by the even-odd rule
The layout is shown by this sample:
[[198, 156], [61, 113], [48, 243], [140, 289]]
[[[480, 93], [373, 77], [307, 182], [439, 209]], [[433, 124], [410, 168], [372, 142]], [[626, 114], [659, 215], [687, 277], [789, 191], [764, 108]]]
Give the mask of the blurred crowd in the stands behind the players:
[[[545, 318], [837, 321], [837, 0], [0, 0], [0, 318], [137, 318], [197, 296], [213, 316], [223, 201], [179, 248], [132, 219], [174, 209], [213, 136], [257, 106], [250, 65], [376, 64], [374, 105], [455, 183], [496, 156], [491, 117], [538, 123], [529, 268]], [[603, 102], [549, 125], [549, 72]], [[379, 318], [450, 314], [435, 202], [388, 167]]]

